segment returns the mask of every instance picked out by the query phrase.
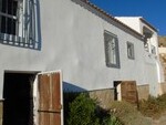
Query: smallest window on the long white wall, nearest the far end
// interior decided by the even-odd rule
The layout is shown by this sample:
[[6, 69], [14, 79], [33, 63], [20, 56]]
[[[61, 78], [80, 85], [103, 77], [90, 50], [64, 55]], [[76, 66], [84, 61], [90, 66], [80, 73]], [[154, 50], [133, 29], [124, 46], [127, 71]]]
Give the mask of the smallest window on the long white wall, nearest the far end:
[[134, 60], [134, 44], [132, 42], [127, 42], [127, 56], [128, 59]]

